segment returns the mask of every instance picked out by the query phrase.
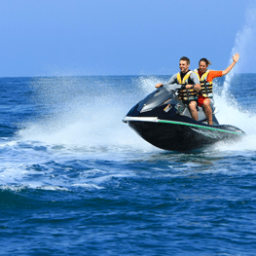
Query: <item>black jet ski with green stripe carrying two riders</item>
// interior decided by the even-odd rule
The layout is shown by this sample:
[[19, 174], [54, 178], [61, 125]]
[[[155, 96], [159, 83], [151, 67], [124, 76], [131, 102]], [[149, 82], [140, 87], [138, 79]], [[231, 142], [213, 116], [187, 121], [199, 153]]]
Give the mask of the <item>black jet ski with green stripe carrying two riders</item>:
[[236, 141], [245, 135], [239, 128], [219, 125], [212, 103], [213, 126], [198, 107], [199, 121], [192, 119], [187, 105], [165, 85], [133, 106], [124, 123], [152, 145], [169, 151], [191, 151], [218, 141]]

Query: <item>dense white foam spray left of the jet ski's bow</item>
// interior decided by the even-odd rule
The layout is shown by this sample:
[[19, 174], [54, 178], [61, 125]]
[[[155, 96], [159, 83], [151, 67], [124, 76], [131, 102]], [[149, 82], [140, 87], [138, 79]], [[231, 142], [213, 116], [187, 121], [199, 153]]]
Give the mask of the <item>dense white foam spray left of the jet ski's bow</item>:
[[[46, 89], [43, 90], [44, 86]], [[83, 91], [84, 94], [74, 92], [78, 90], [76, 85], [72, 91], [72, 86], [66, 82], [62, 87], [55, 87], [55, 84], [44, 84], [44, 81], [36, 90], [40, 102], [52, 107], [53, 113], [26, 123], [18, 132], [21, 140], [88, 148], [150, 148], [148, 143], [122, 122], [129, 108], [136, 103], [133, 93], [128, 98], [127, 91], [112, 90], [110, 86], [104, 94], [99, 93], [99, 89], [93, 89], [94, 94], [88, 96], [87, 91]], [[91, 91], [90, 87], [88, 91]]]

